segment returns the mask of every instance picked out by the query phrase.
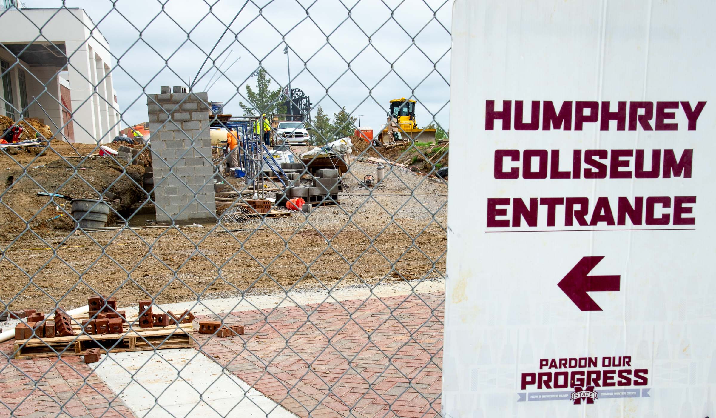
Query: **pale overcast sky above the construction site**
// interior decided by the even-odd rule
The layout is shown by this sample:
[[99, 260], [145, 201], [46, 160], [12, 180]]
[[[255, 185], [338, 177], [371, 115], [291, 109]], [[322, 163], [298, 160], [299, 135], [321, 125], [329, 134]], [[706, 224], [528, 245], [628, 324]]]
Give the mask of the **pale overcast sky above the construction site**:
[[[23, 3], [57, 7], [62, 1]], [[385, 123], [388, 100], [414, 95], [421, 127], [431, 122], [432, 113], [448, 128], [452, 0], [255, 3], [263, 5], [261, 14], [256, 5], [240, 0], [168, 0], [164, 5], [158, 0], [65, 1], [67, 7], [84, 8], [110, 42], [117, 59], [112, 65], [120, 66], [112, 73], [117, 100], [127, 123], [147, 120], [142, 89], [151, 94], [161, 85], [189, 85], [212, 49], [199, 73], [210, 71], [195, 91], [207, 91], [213, 60], [218, 66], [226, 58], [226, 69], [241, 57], [214, 77], [208, 92], [209, 100], [226, 103], [225, 113], [243, 115], [238, 102], [246, 103], [244, 85], [255, 85], [256, 78], [249, 76], [259, 65], [274, 80], [271, 87], [288, 83], [283, 52], [288, 44], [291, 87], [303, 90], [329, 115], [345, 106], [364, 115], [362, 125], [378, 129]], [[222, 37], [226, 27], [231, 32]]]

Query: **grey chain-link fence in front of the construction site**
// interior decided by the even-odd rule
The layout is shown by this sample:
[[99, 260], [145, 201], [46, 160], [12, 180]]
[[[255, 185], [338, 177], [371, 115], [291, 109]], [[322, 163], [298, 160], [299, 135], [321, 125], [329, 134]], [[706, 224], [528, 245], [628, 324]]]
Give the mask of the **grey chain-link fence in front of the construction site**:
[[0, 417], [440, 416], [451, 1], [69, 3], [0, 13]]

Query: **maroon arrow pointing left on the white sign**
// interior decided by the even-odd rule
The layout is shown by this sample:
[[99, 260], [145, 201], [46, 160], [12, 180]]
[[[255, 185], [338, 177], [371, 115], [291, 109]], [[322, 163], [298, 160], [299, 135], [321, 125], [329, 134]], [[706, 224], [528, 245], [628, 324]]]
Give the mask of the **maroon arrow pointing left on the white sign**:
[[580, 310], [601, 310], [587, 292], [618, 292], [620, 276], [588, 276], [604, 257], [582, 257], [557, 283]]

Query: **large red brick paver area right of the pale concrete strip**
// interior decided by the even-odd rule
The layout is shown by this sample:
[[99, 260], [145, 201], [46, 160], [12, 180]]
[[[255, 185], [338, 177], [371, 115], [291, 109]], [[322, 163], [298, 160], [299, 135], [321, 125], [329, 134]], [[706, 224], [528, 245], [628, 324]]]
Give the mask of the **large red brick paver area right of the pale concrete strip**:
[[300, 417], [438, 417], [444, 301], [428, 293], [247, 310], [226, 319], [245, 326], [243, 338], [194, 336]]

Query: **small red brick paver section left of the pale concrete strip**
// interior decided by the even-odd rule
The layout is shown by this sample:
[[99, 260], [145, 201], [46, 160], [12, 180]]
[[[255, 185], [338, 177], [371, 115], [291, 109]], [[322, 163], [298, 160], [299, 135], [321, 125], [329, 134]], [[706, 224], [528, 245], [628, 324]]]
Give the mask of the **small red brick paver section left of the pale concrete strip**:
[[[0, 351], [11, 356], [14, 342], [0, 343]], [[119, 399], [112, 401], [115, 394], [82, 356], [0, 362], [0, 418], [134, 417]]]

